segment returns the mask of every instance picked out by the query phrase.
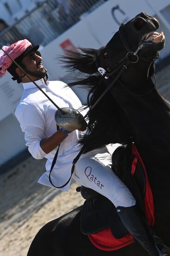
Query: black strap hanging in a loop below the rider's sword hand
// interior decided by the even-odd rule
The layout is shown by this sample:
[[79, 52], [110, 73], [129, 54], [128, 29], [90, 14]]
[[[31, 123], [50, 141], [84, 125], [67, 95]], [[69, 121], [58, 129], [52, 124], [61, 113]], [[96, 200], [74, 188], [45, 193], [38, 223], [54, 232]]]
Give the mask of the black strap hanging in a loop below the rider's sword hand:
[[[58, 129], [59, 129], [59, 126], [57, 125], [57, 131], [58, 131]], [[71, 177], [72, 177], [72, 175], [73, 175], [74, 169], [75, 169], [75, 164], [76, 164], [76, 162], [79, 160], [80, 156], [82, 155], [82, 153], [83, 153], [85, 147], [84, 147], [84, 145], [82, 146], [82, 149], [80, 150], [80, 152], [78, 153], [78, 155], [75, 157], [75, 159], [74, 159], [73, 162], [72, 162], [72, 168], [71, 168], [71, 174], [70, 174], [69, 180], [68, 180], [65, 184], [63, 184], [63, 186], [57, 187], [57, 186], [55, 186], [55, 185], [53, 184], [53, 182], [51, 181], [51, 172], [52, 172], [52, 169], [54, 168], [54, 166], [55, 166], [55, 164], [56, 164], [57, 156], [58, 156], [58, 152], [59, 152], [59, 148], [60, 148], [60, 144], [58, 145], [56, 154], [55, 154], [54, 159], [53, 159], [53, 161], [52, 161], [51, 168], [50, 168], [50, 174], [49, 174], [49, 181], [50, 181], [51, 185], [52, 185], [53, 187], [55, 187], [56, 189], [62, 189], [63, 187], [65, 187], [65, 186], [69, 183], [69, 181], [71, 180]]]

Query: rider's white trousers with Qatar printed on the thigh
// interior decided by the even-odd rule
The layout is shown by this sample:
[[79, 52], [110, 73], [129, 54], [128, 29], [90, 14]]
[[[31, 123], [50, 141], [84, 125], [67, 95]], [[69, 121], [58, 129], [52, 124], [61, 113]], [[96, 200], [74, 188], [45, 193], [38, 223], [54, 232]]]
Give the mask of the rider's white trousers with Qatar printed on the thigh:
[[130, 207], [136, 204], [130, 190], [111, 169], [112, 155], [107, 148], [83, 154], [75, 165], [73, 179], [106, 196], [115, 207]]

